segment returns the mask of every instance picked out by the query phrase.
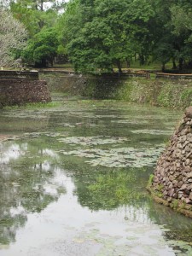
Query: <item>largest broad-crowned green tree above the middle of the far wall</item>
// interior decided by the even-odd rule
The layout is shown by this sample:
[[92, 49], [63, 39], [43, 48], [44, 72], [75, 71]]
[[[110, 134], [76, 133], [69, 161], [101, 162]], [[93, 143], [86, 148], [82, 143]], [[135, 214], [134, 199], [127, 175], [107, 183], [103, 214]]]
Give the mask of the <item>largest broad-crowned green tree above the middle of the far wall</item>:
[[122, 61], [136, 51], [144, 54], [140, 41], [142, 38], [144, 44], [148, 39], [146, 25], [153, 15], [145, 0], [71, 1], [62, 21], [64, 42], [75, 69], [111, 71], [115, 65], [121, 72]]

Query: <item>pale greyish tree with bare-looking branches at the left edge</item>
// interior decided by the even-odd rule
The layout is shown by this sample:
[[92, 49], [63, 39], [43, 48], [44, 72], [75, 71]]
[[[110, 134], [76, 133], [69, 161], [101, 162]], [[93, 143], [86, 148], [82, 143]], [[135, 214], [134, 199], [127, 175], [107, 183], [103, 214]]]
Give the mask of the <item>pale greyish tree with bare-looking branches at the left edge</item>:
[[27, 32], [19, 20], [9, 11], [0, 11], [0, 66], [15, 64], [15, 51], [26, 45]]

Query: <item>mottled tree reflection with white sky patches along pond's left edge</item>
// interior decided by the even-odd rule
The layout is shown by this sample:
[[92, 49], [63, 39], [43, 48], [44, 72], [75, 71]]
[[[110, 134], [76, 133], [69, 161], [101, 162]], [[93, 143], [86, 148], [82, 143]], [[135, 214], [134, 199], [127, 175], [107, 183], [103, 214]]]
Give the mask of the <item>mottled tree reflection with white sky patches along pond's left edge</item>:
[[41, 212], [66, 192], [58, 178], [61, 172], [50, 157], [50, 149], [28, 143], [3, 143], [0, 154], [0, 241], [15, 241], [15, 233], [26, 224], [27, 213]]

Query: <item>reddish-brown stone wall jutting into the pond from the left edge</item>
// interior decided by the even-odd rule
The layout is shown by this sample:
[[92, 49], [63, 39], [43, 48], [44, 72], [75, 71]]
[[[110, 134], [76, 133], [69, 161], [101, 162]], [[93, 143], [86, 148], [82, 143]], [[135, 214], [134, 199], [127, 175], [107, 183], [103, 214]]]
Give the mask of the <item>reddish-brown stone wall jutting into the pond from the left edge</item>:
[[50, 101], [51, 97], [45, 81], [0, 79], [0, 107]]

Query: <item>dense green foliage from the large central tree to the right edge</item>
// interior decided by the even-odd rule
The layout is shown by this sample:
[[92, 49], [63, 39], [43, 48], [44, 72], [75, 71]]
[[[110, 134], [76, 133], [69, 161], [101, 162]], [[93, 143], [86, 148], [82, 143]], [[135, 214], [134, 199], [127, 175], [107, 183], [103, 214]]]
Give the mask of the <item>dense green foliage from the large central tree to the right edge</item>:
[[170, 60], [182, 68], [192, 55], [189, 6], [162, 0], [72, 0], [60, 20], [61, 41], [79, 71], [111, 72], [117, 66], [121, 72], [122, 63], [130, 65], [134, 55], [142, 65], [152, 55], [163, 69]]

